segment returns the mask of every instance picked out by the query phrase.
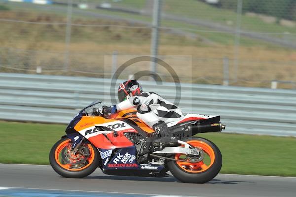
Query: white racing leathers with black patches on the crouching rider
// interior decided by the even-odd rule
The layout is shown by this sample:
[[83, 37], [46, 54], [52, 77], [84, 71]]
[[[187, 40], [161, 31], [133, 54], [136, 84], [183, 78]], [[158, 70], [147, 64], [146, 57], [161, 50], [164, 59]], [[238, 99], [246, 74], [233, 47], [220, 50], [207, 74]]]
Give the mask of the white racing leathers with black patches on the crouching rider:
[[136, 108], [137, 116], [149, 127], [159, 121], [170, 123], [184, 118], [182, 111], [171, 102], [153, 92], [142, 92], [138, 96], [120, 102], [116, 105], [117, 111]]

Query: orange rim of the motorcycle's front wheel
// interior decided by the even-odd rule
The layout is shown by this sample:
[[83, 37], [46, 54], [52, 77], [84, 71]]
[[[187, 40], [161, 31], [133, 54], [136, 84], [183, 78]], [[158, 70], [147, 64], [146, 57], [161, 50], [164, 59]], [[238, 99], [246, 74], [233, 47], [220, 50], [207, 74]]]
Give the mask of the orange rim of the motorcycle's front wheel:
[[[66, 169], [66, 170], [70, 170], [70, 171], [81, 171], [85, 168], [87, 168], [88, 166], [90, 166], [93, 161], [94, 161], [94, 149], [92, 148], [92, 146], [90, 144], [87, 144], [87, 147], [89, 149], [90, 152], [90, 156], [86, 159], [86, 161], [88, 162], [86, 165], [82, 166], [81, 168], [78, 169], [73, 169], [71, 168], [73, 165], [72, 164], [63, 164], [61, 161], [61, 154], [63, 154], [63, 151], [65, 149], [69, 149], [72, 145], [72, 142], [70, 139], [65, 140], [63, 142], [61, 142], [58, 147], [55, 150], [54, 156], [55, 156], [55, 160], [57, 162], [57, 164], [59, 164], [59, 166], [61, 166], [62, 168]], [[77, 154], [76, 154], [77, 155]], [[75, 158], [75, 155], [73, 155]]]

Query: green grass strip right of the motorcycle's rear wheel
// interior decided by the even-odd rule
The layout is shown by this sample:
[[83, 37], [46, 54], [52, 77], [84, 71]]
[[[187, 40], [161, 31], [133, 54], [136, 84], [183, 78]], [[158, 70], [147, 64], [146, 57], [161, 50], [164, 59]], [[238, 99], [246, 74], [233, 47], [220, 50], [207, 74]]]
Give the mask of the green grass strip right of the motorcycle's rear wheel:
[[296, 176], [296, 138], [207, 133], [223, 157], [222, 173]]

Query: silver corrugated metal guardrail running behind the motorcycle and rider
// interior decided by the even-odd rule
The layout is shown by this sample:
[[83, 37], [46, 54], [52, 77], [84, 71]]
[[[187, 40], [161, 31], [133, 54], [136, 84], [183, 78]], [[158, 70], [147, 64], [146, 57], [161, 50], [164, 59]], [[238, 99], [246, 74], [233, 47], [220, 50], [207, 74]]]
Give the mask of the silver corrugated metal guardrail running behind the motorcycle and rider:
[[[94, 100], [111, 105], [110, 84], [111, 79], [0, 73], [0, 119], [66, 124]], [[174, 83], [141, 84], [175, 99]], [[225, 132], [296, 136], [295, 90], [182, 84], [179, 106], [185, 113], [220, 115]]]

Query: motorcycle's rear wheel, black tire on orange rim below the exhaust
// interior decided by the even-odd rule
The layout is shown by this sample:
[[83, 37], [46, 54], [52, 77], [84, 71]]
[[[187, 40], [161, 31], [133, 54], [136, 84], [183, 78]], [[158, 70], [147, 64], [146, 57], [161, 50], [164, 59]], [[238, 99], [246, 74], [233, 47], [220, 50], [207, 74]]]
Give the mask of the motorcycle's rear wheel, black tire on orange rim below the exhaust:
[[203, 150], [204, 159], [199, 161], [197, 158], [175, 154], [174, 159], [186, 160], [186, 162], [168, 161], [168, 168], [174, 177], [184, 183], [205, 183], [217, 176], [222, 166], [222, 155], [219, 148], [213, 142], [201, 137], [193, 137], [185, 142]]

